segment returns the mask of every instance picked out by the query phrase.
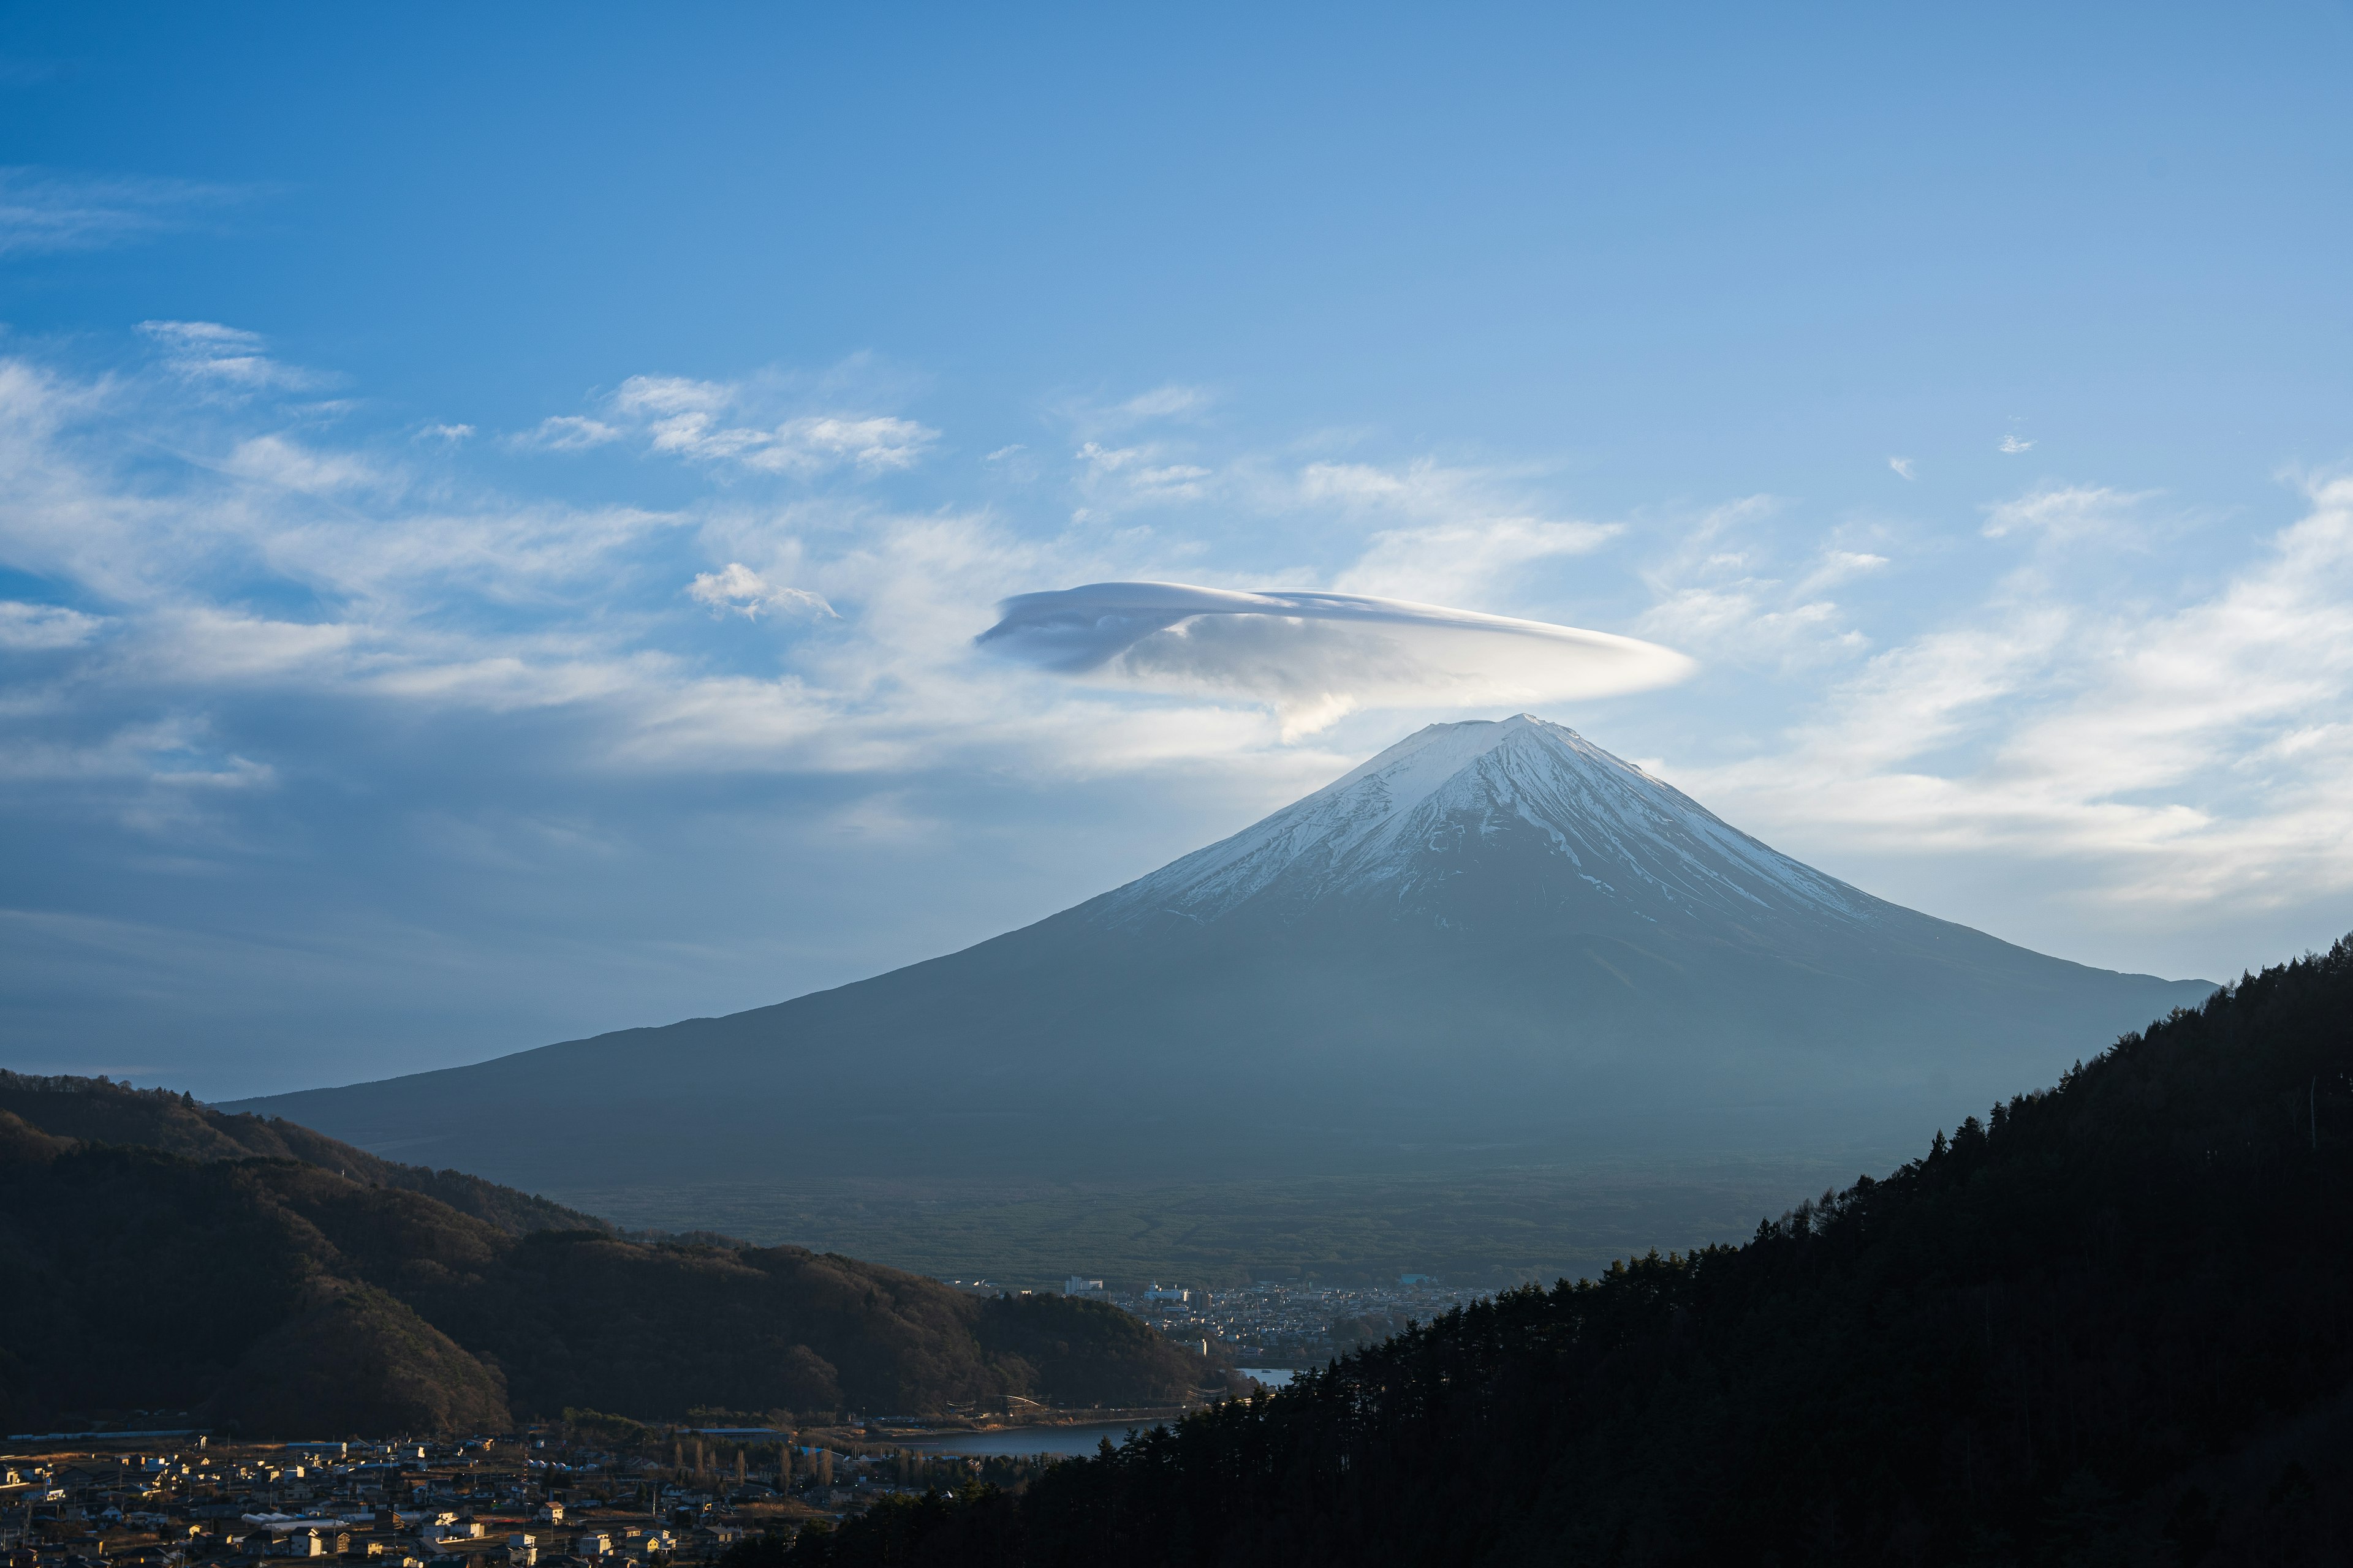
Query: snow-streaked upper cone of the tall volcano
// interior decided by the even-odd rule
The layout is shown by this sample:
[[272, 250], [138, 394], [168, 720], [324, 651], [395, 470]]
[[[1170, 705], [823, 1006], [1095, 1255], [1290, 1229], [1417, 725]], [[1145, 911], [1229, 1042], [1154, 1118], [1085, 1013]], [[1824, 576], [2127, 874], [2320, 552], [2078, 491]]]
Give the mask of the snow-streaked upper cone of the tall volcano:
[[[1475, 919], [1614, 907], [1638, 919], [1868, 919], [1880, 900], [1760, 844], [1689, 795], [1534, 715], [1431, 724], [1282, 811], [1087, 905], [1104, 924], [1379, 903]], [[1492, 889], [1489, 889], [1492, 891]]]

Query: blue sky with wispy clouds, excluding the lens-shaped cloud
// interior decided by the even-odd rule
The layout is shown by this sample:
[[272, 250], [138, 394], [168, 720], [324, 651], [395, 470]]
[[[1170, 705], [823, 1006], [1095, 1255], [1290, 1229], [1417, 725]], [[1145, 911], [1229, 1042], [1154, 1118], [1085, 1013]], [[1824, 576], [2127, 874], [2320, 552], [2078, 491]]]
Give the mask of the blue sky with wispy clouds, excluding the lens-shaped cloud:
[[1638, 637], [1689, 672], [1539, 710], [1875, 893], [2322, 945], [2348, 63], [2346, 5], [16, 7], [7, 1063], [755, 1006], [1506, 710], [972, 646], [1127, 578]]

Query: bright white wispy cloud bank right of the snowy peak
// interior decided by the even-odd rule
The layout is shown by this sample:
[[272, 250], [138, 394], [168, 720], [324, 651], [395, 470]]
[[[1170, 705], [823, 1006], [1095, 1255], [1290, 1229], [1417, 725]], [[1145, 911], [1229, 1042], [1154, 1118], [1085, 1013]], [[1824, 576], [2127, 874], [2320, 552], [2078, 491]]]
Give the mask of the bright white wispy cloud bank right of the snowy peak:
[[[2068, 527], [2118, 496], [1993, 510]], [[2304, 501], [2172, 607], [2005, 578], [1833, 684], [1784, 750], [1678, 778], [1857, 853], [2066, 865], [2059, 907], [2108, 919], [2353, 891], [2353, 480]]]

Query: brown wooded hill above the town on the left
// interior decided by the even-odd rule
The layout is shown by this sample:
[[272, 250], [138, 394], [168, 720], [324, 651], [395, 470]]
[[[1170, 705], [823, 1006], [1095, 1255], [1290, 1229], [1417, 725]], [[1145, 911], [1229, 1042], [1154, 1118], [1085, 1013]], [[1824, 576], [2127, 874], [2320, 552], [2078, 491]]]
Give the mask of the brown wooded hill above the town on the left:
[[165, 1091], [7, 1074], [0, 1192], [7, 1429], [132, 1408], [320, 1436], [567, 1406], [1139, 1406], [1219, 1378], [1104, 1302], [976, 1298], [791, 1246], [633, 1241]]

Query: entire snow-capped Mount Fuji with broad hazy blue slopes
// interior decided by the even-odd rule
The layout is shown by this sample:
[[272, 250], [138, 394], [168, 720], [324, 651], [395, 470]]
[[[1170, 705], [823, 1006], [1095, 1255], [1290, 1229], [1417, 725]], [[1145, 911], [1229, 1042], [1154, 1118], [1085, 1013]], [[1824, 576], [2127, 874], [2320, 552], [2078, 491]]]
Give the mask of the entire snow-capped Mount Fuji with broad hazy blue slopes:
[[233, 1110], [558, 1192], [1901, 1150], [2209, 990], [1873, 898], [1520, 715], [941, 959]]

